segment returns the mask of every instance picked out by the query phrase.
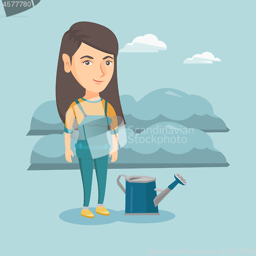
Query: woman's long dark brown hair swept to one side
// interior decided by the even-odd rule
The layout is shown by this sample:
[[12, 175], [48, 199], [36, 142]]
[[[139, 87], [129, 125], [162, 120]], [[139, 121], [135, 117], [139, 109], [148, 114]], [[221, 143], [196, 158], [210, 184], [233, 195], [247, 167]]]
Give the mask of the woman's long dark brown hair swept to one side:
[[[114, 55], [114, 73], [108, 86], [100, 92], [100, 97], [108, 101], [113, 106], [116, 115], [121, 117], [118, 118], [118, 125], [120, 125], [121, 119], [124, 121], [124, 117], [117, 84], [118, 41], [110, 29], [92, 22], [75, 23], [62, 37], [56, 75], [56, 102], [59, 116], [65, 123], [69, 106], [75, 99], [83, 97], [85, 93], [85, 89], [78, 83], [73, 74], [65, 72], [62, 60], [62, 54], [66, 53], [72, 61], [72, 56], [82, 42], [97, 50]], [[125, 121], [122, 124], [125, 124]]]

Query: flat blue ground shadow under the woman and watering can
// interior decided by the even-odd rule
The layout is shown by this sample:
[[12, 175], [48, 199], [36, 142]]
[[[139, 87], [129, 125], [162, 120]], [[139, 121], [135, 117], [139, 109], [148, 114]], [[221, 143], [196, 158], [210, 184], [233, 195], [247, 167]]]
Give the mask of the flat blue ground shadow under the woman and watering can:
[[[90, 208], [94, 213], [96, 208]], [[169, 221], [175, 218], [172, 212], [160, 210], [160, 215], [124, 215], [124, 210], [115, 211], [109, 209], [110, 216], [101, 216], [95, 214], [95, 218], [89, 219], [81, 216], [81, 208], [70, 209], [61, 212], [59, 218], [62, 221], [78, 224], [78, 225], [103, 225], [110, 224], [116, 221], [127, 222], [127, 223], [157, 223]]]

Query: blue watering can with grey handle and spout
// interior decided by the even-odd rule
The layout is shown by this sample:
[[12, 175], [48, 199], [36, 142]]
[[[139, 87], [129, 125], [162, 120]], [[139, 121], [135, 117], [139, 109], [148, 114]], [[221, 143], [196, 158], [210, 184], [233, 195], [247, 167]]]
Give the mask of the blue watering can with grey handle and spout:
[[[119, 181], [125, 178], [126, 189]], [[185, 179], [175, 174], [175, 181], [165, 189], [156, 188], [156, 178], [149, 176], [129, 176], [120, 174], [117, 184], [125, 194], [124, 215], [159, 215], [158, 204], [173, 190], [178, 184], [186, 185]], [[157, 196], [157, 191], [161, 193]]]

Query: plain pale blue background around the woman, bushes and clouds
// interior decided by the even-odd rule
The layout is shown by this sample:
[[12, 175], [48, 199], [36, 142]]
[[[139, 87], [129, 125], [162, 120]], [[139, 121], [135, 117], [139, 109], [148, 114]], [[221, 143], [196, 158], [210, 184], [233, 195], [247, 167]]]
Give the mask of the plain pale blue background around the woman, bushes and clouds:
[[[227, 254], [229, 248], [255, 248], [255, 8], [255, 1], [41, 0], [7, 18], [0, 7], [3, 255], [147, 255], [150, 249]], [[115, 211], [124, 210], [119, 174], [156, 177], [164, 189], [180, 173], [187, 186], [177, 186], [156, 216], [164, 220], [164, 211], [172, 212], [172, 220], [107, 224], [111, 216], [97, 216], [90, 221], [98, 225], [86, 225], [92, 222], [85, 218], [78, 221], [84, 225], [65, 222], [59, 215], [82, 205], [79, 170], [27, 171], [40, 138], [26, 137], [31, 117], [38, 105], [55, 98], [61, 38], [79, 21], [110, 28], [120, 49], [148, 33], [165, 42], [167, 51], [118, 55], [121, 95], [138, 100], [166, 87], [200, 95], [230, 129], [209, 134], [227, 168], [109, 170], [104, 203]], [[183, 65], [205, 51], [221, 62]], [[96, 201], [94, 175], [90, 205]], [[80, 209], [71, 214], [70, 222], [79, 214]]]

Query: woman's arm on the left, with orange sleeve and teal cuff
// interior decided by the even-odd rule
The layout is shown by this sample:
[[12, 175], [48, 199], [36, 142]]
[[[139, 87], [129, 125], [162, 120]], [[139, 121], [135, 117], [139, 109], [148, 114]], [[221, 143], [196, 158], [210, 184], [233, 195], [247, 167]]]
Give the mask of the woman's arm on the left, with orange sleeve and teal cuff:
[[71, 144], [71, 133], [73, 133], [73, 122], [75, 119], [75, 115], [72, 108], [69, 108], [66, 120], [65, 120], [65, 158], [68, 162], [72, 162], [72, 157], [74, 157], [74, 154], [71, 150], [70, 144]]

